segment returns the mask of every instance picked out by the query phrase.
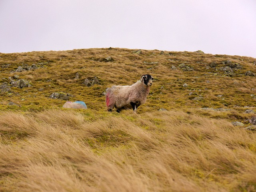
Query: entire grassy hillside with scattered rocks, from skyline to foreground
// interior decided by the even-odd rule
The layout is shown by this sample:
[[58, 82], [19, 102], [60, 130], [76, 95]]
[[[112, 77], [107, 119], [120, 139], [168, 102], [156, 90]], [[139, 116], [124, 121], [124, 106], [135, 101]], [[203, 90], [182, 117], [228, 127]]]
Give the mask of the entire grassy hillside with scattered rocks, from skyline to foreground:
[[[142, 74], [138, 113], [106, 112], [106, 88]], [[255, 58], [202, 52], [0, 54], [0, 191], [256, 191], [255, 74]]]

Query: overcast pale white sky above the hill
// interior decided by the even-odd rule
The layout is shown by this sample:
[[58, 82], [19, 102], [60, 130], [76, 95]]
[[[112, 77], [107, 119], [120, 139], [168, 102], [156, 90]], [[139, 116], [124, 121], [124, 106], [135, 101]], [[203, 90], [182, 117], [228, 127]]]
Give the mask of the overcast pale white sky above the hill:
[[0, 52], [120, 47], [256, 58], [256, 0], [0, 0]]

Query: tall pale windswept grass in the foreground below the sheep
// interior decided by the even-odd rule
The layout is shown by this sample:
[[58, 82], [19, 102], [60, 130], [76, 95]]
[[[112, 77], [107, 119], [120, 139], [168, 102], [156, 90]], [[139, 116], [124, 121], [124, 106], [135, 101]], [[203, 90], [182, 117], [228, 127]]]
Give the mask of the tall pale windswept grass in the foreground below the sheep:
[[255, 132], [182, 111], [127, 114], [0, 112], [0, 191], [256, 190]]

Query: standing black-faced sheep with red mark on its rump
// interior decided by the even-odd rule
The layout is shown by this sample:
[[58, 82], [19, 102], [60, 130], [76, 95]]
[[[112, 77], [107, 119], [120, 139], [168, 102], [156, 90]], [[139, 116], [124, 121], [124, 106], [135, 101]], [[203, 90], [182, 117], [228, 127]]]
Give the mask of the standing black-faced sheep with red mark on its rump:
[[137, 112], [138, 106], [146, 102], [152, 80], [149, 75], [142, 75], [133, 85], [112, 86], [106, 89], [106, 106], [107, 111], [112, 111], [114, 107], [116, 112], [120, 113], [123, 108], [132, 108], [134, 113]]

